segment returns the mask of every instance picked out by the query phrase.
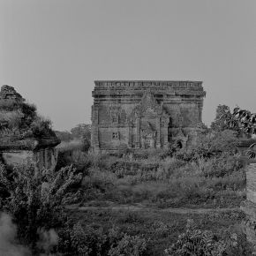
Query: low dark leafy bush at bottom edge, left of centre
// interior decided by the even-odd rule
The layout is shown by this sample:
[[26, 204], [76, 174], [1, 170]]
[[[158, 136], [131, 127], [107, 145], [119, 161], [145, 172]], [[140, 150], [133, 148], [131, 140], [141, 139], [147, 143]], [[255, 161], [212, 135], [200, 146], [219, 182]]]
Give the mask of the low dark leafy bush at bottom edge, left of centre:
[[59, 233], [59, 236], [57, 251], [65, 256], [139, 256], [143, 255], [147, 249], [145, 238], [129, 236], [116, 226], [103, 230], [93, 225], [83, 227], [78, 222], [72, 227], [66, 227]]

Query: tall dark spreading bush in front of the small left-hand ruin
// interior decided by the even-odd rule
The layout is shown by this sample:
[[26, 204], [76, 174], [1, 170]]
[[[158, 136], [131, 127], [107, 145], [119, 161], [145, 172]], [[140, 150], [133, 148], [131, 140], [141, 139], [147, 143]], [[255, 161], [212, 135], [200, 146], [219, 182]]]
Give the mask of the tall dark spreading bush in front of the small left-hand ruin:
[[65, 194], [80, 179], [72, 167], [56, 173], [20, 167], [8, 173], [1, 166], [0, 187], [5, 187], [5, 196], [0, 199], [0, 207], [13, 217], [23, 245], [36, 250], [40, 230], [58, 229], [63, 225]]

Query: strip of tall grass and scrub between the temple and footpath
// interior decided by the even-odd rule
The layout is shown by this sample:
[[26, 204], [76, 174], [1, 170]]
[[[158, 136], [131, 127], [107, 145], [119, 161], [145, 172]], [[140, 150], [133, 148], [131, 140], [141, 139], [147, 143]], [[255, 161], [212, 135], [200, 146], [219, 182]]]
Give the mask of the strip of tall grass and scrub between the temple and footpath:
[[[143, 203], [151, 207], [238, 207], [245, 199], [245, 162], [230, 131], [202, 135], [192, 151], [87, 156], [80, 205]], [[82, 157], [83, 155], [83, 157]], [[103, 203], [104, 202], [104, 203]]]

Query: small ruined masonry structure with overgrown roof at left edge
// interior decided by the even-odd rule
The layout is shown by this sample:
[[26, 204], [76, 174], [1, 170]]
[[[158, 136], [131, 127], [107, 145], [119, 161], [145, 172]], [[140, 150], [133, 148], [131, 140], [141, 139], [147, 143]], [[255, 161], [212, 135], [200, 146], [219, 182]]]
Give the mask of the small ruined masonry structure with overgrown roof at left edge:
[[[3, 106], [25, 102], [13, 87], [3, 86], [0, 92], [0, 160], [7, 166], [33, 164], [37, 169], [55, 169], [57, 160], [56, 145], [60, 143], [54, 132], [40, 138], [20, 136], [19, 130], [7, 129], [10, 117], [22, 118], [21, 110], [6, 111]], [[18, 113], [18, 114], [17, 114]], [[21, 121], [22, 122], [22, 121]], [[26, 132], [26, 131], [25, 131]], [[16, 134], [17, 133], [17, 134]]]

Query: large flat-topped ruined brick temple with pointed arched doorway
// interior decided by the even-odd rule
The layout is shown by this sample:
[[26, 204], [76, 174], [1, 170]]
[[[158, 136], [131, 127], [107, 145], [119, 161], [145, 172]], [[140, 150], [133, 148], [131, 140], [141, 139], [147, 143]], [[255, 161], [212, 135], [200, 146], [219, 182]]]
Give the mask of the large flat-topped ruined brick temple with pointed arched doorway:
[[200, 81], [95, 81], [94, 151], [191, 146], [205, 95]]

